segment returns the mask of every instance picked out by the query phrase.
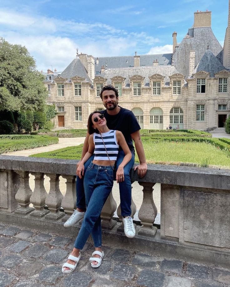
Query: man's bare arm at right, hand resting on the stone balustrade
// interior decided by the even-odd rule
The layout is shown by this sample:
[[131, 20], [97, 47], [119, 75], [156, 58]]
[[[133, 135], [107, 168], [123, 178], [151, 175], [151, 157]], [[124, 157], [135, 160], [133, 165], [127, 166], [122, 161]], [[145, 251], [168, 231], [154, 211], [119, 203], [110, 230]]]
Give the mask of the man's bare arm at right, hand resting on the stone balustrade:
[[147, 164], [146, 164], [146, 158], [145, 158], [145, 151], [144, 151], [142, 141], [141, 141], [140, 130], [137, 130], [134, 133], [132, 133], [131, 138], [134, 141], [137, 156], [138, 156], [139, 161], [140, 161], [140, 165], [135, 166], [134, 171], [137, 169], [138, 175], [141, 178], [143, 178], [146, 175]]

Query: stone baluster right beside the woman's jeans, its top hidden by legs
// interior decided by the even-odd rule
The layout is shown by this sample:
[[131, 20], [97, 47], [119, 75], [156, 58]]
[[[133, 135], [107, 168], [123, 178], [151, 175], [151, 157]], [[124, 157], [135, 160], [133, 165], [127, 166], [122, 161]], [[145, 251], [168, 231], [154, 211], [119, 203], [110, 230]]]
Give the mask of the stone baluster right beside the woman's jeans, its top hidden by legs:
[[109, 197], [107, 198], [102, 210], [101, 210], [101, 226], [105, 229], [112, 229], [116, 225], [116, 221], [112, 219], [114, 212], [117, 209], [117, 204], [113, 198], [112, 191], [110, 192]]

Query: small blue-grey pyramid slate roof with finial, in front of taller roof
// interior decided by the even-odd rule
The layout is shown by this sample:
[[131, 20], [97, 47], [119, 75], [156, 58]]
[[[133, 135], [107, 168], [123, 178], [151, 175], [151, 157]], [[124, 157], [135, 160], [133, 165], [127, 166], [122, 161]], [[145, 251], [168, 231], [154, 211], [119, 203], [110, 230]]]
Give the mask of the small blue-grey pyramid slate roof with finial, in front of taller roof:
[[227, 69], [222, 65], [217, 57], [213, 55], [212, 51], [207, 49], [204, 56], [201, 58], [200, 62], [193, 71], [193, 74], [200, 71], [206, 71], [210, 73], [210, 77], [215, 77], [214, 74], [222, 70]]

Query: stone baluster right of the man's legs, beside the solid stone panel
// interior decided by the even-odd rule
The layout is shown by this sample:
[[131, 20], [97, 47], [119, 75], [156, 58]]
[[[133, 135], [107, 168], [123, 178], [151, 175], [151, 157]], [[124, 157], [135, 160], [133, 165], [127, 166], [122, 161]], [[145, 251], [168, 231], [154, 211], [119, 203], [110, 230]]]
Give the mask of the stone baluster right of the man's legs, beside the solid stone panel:
[[153, 226], [157, 215], [157, 208], [153, 200], [153, 186], [152, 182], [138, 182], [143, 186], [143, 202], [138, 212], [138, 217], [141, 220], [141, 228], [138, 234], [155, 237], [157, 228]]

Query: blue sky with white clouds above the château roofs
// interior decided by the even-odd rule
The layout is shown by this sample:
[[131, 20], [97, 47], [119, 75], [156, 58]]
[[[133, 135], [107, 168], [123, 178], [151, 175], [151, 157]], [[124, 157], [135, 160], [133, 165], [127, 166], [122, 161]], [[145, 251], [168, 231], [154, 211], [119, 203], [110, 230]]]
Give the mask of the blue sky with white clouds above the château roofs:
[[25, 45], [39, 71], [63, 71], [77, 47], [94, 57], [171, 53], [173, 31], [181, 42], [197, 10], [212, 11], [223, 46], [228, 17], [227, 0], [0, 0], [0, 6], [0, 36]]

